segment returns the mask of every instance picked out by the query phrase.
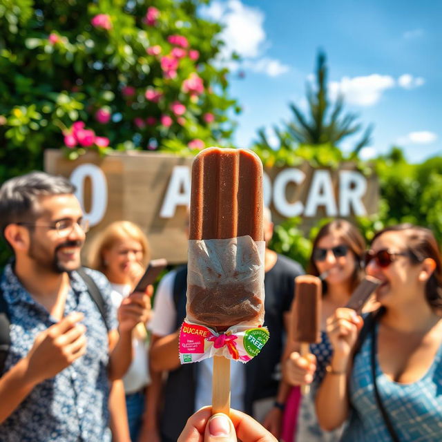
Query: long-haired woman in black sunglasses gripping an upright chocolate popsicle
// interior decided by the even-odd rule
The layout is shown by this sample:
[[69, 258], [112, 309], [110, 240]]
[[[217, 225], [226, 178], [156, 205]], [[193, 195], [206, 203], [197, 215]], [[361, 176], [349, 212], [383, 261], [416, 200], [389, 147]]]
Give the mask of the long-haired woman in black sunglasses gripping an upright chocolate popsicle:
[[[347, 303], [352, 291], [363, 278], [360, 263], [364, 249], [363, 236], [346, 220], [334, 220], [325, 224], [314, 240], [308, 273], [323, 279], [321, 342], [310, 345], [311, 354], [306, 357], [301, 357], [298, 353], [299, 345], [287, 343], [286, 354], [290, 356], [285, 364], [286, 380], [296, 386], [311, 384], [311, 389], [309, 394], [302, 397], [300, 403], [296, 436], [294, 438], [285, 434], [285, 442], [339, 440], [340, 430], [321, 430], [316, 418], [314, 400], [332, 356], [332, 346], [325, 332], [326, 320], [338, 307]], [[287, 405], [293, 403], [297, 392], [299, 389], [295, 387]], [[296, 419], [293, 413], [292, 411], [291, 416], [285, 416], [285, 423]]]

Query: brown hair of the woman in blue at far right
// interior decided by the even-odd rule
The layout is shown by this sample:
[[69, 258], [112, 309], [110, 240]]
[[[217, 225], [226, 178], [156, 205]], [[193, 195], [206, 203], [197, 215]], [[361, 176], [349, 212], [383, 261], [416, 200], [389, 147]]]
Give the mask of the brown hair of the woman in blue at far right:
[[436, 262], [430, 278], [425, 285], [425, 298], [433, 309], [442, 308], [442, 259], [439, 245], [430, 229], [416, 226], [411, 223], [396, 224], [378, 231], [372, 239], [372, 244], [385, 232], [403, 232], [407, 236], [405, 250], [408, 252], [412, 264], [418, 264], [425, 258], [432, 258]]

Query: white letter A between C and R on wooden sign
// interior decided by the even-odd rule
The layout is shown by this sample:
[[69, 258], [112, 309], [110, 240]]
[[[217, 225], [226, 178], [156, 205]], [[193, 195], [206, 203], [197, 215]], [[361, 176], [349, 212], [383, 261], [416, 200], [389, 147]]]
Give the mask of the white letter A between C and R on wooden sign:
[[315, 216], [318, 206], [325, 206], [327, 216], [337, 214], [332, 180], [328, 171], [314, 171], [304, 215]]

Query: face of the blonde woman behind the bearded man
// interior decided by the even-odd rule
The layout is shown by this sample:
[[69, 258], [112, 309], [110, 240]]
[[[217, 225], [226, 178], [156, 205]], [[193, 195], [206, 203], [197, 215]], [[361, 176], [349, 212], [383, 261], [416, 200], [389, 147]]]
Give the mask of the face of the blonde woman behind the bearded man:
[[[103, 252], [106, 276], [116, 284], [132, 284], [144, 267], [144, 249], [140, 241], [120, 238]], [[141, 270], [140, 270], [141, 269]]]

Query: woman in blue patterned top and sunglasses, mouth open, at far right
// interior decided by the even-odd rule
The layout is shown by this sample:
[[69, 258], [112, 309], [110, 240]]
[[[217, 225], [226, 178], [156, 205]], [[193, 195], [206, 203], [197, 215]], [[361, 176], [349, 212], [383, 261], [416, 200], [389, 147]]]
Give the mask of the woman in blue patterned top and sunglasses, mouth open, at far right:
[[363, 320], [349, 309], [327, 321], [334, 355], [317, 396], [320, 424], [332, 430], [349, 417], [342, 441], [442, 441], [438, 244], [423, 227], [387, 227], [365, 265], [381, 280], [381, 308], [360, 333]]

